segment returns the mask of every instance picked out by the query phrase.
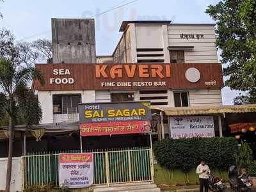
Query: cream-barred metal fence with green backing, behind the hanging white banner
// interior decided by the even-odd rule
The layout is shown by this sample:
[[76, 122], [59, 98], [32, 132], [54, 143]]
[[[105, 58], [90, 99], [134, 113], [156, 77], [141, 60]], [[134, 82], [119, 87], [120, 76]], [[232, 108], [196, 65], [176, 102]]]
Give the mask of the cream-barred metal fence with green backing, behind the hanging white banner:
[[[79, 152], [77, 150], [66, 153]], [[22, 157], [24, 186], [58, 185], [59, 154], [41, 152]], [[154, 168], [151, 148], [115, 150], [85, 150], [92, 152], [94, 184], [153, 181]]]

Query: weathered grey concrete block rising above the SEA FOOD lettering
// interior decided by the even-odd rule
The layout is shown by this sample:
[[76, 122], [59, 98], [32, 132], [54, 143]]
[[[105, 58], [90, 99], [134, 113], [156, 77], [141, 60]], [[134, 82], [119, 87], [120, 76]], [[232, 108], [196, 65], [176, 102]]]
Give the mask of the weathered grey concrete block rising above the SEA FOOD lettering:
[[95, 63], [93, 19], [52, 18], [53, 63]]

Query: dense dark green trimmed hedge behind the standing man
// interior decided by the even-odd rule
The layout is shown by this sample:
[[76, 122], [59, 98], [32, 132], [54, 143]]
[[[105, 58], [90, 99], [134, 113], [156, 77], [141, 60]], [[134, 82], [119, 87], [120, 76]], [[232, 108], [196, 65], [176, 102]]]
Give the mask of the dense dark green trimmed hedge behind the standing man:
[[153, 148], [158, 164], [188, 173], [202, 160], [211, 168], [227, 170], [236, 164], [234, 154], [238, 151], [238, 143], [236, 138], [167, 138], [156, 141]]

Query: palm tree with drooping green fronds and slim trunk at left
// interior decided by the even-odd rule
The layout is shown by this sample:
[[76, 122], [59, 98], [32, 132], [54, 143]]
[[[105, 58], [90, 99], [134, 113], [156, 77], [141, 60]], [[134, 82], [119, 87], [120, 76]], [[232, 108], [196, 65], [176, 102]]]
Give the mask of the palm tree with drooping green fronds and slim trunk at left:
[[42, 118], [40, 104], [28, 88], [33, 79], [44, 84], [44, 78], [35, 67], [0, 58], [0, 119], [6, 114], [9, 117], [6, 192], [10, 191], [15, 125], [22, 122], [29, 127], [38, 124]]

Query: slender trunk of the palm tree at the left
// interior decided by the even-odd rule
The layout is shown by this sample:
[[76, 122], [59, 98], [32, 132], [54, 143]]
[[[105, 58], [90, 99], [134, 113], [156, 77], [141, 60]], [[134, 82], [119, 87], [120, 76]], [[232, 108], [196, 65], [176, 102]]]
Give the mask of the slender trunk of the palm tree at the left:
[[[12, 104], [11, 111], [12, 111]], [[8, 161], [7, 161], [7, 171], [6, 171], [6, 186], [5, 190], [6, 192], [10, 192], [10, 184], [12, 179], [12, 150], [13, 150], [13, 136], [14, 136], [14, 130], [13, 130], [13, 118], [10, 116], [9, 120], [9, 147], [8, 147]]]

